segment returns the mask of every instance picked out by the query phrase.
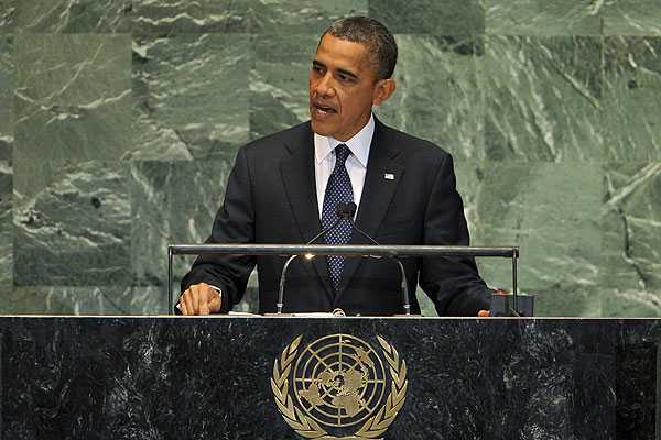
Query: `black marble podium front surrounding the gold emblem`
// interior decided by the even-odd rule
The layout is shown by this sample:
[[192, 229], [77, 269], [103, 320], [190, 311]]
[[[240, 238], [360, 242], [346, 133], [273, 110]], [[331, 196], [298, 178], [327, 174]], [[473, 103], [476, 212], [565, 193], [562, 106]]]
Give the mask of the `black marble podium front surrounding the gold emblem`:
[[405, 361], [386, 439], [654, 438], [659, 320], [4, 317], [1, 439], [299, 438], [273, 363], [336, 333]]

